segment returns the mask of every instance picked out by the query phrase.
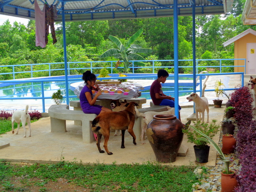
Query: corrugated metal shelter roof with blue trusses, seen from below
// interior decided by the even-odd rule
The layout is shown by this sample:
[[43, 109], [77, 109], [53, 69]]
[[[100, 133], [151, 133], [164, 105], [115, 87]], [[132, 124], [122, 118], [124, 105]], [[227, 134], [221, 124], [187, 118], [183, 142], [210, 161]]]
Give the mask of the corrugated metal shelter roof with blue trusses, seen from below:
[[[192, 15], [193, 0], [177, 1], [179, 16]], [[41, 9], [44, 4], [57, 6], [59, 17], [55, 21], [62, 21], [62, 2], [65, 20], [77, 21], [172, 17], [174, 0], [37, 0]], [[231, 10], [232, 2], [232, 0], [195, 0], [196, 15], [227, 13]], [[0, 14], [34, 19], [34, 1], [0, 0]]]

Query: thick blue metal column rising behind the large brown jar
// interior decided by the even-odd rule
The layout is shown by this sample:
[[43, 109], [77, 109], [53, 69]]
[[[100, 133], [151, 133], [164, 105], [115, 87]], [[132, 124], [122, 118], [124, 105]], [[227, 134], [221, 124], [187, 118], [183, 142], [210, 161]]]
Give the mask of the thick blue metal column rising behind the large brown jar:
[[178, 1], [173, 1], [173, 33], [174, 33], [174, 108], [179, 118], [179, 68], [178, 68]]

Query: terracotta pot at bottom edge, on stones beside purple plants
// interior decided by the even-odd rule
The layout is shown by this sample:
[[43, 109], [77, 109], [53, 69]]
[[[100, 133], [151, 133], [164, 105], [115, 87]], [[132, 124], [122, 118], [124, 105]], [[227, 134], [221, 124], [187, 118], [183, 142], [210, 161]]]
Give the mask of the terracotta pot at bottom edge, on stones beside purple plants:
[[232, 174], [223, 174], [221, 172], [221, 192], [234, 192], [234, 188], [237, 186], [236, 174], [234, 171], [230, 171]]

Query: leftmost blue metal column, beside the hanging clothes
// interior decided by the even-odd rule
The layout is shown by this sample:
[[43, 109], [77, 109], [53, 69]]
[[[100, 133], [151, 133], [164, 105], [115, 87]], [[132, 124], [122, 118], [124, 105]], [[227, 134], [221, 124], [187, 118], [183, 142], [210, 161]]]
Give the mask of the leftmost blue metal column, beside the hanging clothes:
[[62, 30], [63, 30], [64, 64], [65, 64], [66, 101], [67, 101], [67, 105], [69, 105], [69, 83], [68, 83], [68, 72], [67, 72], [67, 44], [66, 44], [64, 2], [61, 2], [61, 10], [62, 10], [61, 14], [62, 14]]

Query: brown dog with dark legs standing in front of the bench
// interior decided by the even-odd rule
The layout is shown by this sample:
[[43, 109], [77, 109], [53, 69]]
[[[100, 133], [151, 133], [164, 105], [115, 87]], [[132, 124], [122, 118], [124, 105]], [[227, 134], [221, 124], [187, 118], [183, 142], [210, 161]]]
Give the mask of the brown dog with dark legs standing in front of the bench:
[[92, 122], [92, 131], [97, 135], [96, 145], [100, 153], [105, 151], [100, 149], [100, 139], [102, 135], [104, 136], [104, 148], [108, 155], [112, 155], [108, 150], [108, 139], [110, 134], [110, 129], [121, 129], [122, 130], [122, 143], [121, 148], [124, 147], [124, 133], [128, 129], [130, 135], [132, 135], [133, 143], [136, 145], [136, 136], [133, 131], [134, 121], [135, 121], [135, 107], [138, 106], [135, 102], [126, 103], [126, 109], [119, 112], [104, 112], [96, 116]]

